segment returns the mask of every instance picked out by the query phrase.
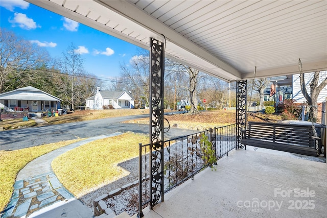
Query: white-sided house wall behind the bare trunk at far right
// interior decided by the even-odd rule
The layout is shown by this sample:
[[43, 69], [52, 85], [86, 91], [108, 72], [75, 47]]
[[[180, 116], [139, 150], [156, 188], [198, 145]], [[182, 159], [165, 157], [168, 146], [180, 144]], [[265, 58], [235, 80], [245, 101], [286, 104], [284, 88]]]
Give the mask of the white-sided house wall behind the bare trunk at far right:
[[[305, 82], [306, 82], [307, 92], [308, 92], [309, 95], [310, 95], [310, 82], [312, 81], [313, 76], [314, 76], [314, 72], [307, 72], [305, 74]], [[321, 81], [323, 81], [325, 78], [327, 78], [327, 71], [320, 71], [318, 84], [320, 84]], [[293, 75], [293, 85], [292, 85], [292, 87], [293, 87], [293, 91], [292, 91], [293, 99], [297, 103], [305, 102], [306, 99], [303, 96], [302, 91], [301, 91], [300, 75], [299, 74]], [[318, 95], [318, 103], [325, 102], [326, 97], [327, 97], [327, 86], [322, 88], [322, 90], [320, 91], [320, 93]]]

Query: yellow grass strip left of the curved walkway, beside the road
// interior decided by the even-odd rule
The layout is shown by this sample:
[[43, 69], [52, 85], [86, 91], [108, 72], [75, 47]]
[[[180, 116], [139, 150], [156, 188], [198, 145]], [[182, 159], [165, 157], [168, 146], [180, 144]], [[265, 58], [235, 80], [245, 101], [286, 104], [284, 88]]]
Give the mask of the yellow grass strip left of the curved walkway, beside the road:
[[0, 151], [0, 211], [9, 203], [20, 169], [35, 158], [82, 139], [43, 144], [15, 151]]

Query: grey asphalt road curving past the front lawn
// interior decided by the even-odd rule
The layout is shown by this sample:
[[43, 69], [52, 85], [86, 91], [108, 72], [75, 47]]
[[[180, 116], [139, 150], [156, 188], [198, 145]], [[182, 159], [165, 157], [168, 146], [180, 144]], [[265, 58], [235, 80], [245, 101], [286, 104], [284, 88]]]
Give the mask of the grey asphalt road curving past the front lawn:
[[[121, 123], [126, 120], [145, 117], [149, 117], [149, 114], [1, 131], [0, 150], [17, 150], [62, 140], [89, 138], [115, 132], [149, 134], [149, 125]], [[165, 137], [173, 138], [191, 133], [193, 133], [192, 130], [171, 128], [167, 133], [165, 133]]]

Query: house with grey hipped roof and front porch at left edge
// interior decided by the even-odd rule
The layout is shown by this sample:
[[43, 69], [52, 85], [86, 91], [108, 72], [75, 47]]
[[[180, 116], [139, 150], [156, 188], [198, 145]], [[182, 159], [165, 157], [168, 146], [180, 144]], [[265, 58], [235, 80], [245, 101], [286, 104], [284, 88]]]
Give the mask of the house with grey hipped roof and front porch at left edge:
[[0, 94], [0, 108], [5, 112], [41, 112], [57, 110], [62, 100], [32, 86]]

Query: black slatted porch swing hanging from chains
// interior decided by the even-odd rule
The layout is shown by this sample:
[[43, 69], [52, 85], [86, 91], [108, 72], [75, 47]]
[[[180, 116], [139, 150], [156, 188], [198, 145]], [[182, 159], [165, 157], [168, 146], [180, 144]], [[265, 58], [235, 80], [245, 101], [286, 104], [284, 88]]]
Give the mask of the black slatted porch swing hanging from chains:
[[314, 136], [312, 126], [248, 122], [248, 129], [241, 131], [245, 150], [248, 145], [310, 156], [321, 153], [321, 139]]

